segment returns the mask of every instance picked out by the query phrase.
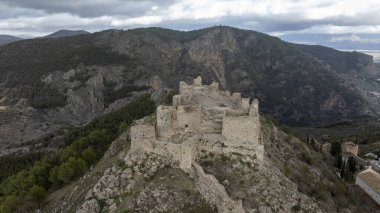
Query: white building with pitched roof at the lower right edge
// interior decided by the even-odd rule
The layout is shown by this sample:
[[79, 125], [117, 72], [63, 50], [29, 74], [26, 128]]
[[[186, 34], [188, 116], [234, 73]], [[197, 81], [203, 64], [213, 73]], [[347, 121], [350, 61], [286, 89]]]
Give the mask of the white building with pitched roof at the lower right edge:
[[380, 205], [380, 174], [368, 168], [356, 176], [355, 184]]

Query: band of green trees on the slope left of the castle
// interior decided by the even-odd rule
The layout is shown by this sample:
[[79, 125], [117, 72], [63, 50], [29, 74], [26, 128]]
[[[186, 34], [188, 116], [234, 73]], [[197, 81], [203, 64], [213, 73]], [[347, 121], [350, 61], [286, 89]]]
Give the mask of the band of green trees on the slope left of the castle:
[[0, 184], [0, 209], [14, 211], [17, 203], [26, 197], [40, 204], [46, 191], [60, 188], [83, 175], [133, 120], [152, 114], [154, 110], [155, 103], [150, 96], [143, 95], [124, 108], [83, 127], [73, 128], [65, 137], [65, 148], [44, 156]]

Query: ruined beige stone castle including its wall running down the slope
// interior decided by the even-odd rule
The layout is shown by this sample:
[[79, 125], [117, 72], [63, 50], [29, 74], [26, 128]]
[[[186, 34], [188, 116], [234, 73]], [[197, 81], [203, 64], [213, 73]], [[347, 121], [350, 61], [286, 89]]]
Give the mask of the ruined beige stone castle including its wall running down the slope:
[[131, 127], [131, 151], [168, 157], [183, 171], [194, 171], [205, 197], [220, 188], [215, 191], [218, 196], [208, 196], [220, 212], [244, 212], [241, 201], [230, 199], [223, 186], [205, 175], [196, 162], [201, 152], [238, 153], [262, 161], [258, 100], [221, 91], [216, 82], [203, 85], [197, 77], [192, 85], [181, 81], [172, 106], [158, 106], [156, 113], [156, 126]]

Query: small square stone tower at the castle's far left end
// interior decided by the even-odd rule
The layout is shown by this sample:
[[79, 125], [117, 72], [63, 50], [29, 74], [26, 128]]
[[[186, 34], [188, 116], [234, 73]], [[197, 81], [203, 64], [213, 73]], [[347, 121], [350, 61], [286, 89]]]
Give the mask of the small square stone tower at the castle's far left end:
[[152, 125], [131, 127], [131, 151], [151, 152], [156, 141], [156, 130]]

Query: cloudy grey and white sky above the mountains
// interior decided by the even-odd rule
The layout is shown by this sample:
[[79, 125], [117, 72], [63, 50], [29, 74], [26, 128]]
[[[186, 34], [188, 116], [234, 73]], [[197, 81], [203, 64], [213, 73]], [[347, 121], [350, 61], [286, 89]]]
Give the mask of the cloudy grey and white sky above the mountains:
[[[253, 29], [301, 43], [380, 43], [378, 0], [0, 0], [0, 34], [41, 36], [60, 29], [90, 32], [212, 25]], [[299, 36], [305, 35], [305, 36]], [[307, 38], [307, 36], [314, 38]]]

